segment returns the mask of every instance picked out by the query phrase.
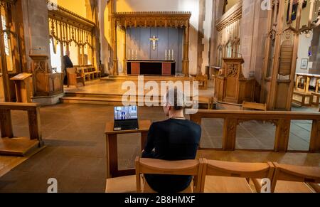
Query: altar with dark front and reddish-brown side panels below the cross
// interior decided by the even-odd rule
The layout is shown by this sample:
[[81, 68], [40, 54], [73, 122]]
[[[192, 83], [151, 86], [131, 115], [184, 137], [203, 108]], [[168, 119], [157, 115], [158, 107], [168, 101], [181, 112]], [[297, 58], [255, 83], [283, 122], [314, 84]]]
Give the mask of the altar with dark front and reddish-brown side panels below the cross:
[[176, 75], [174, 60], [127, 60], [128, 75]]

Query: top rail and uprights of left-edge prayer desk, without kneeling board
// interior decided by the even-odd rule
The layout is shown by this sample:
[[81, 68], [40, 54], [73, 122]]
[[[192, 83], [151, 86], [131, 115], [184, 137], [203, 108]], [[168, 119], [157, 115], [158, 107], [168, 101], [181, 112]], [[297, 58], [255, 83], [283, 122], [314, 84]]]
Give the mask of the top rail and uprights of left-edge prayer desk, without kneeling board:
[[[0, 127], [1, 137], [14, 137], [12, 128], [11, 111], [28, 112], [29, 136], [30, 139], [38, 139], [43, 146], [40, 122], [40, 105], [36, 103], [14, 103], [0, 102]], [[41, 147], [40, 146], [40, 147]]]

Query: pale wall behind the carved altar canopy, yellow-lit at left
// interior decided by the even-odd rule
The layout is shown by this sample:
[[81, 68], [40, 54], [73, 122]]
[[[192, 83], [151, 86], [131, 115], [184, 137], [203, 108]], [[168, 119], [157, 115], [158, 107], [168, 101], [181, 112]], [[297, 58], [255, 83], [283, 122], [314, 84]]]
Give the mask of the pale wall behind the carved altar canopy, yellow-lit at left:
[[[203, 53], [203, 72], [204, 66], [208, 65], [208, 46], [210, 40], [211, 31], [211, 19], [212, 19], [212, 0], [206, 0], [206, 21], [205, 21], [205, 38], [203, 43], [205, 44], [205, 51]], [[105, 5], [103, 5], [105, 7]], [[104, 16], [104, 31], [101, 31], [102, 38], [102, 63], [108, 65], [110, 61], [108, 51], [103, 48], [109, 43], [111, 45], [111, 40], [109, 39], [108, 32], [110, 31], [110, 23], [107, 22], [108, 12], [107, 8], [100, 8], [100, 15]], [[199, 17], [199, 0], [117, 0], [116, 1], [117, 12], [126, 11], [191, 11], [191, 28], [190, 28], [190, 39], [189, 39], [189, 71], [190, 73], [196, 73], [197, 71], [197, 51], [198, 51], [198, 17]], [[119, 60], [119, 70], [122, 69], [123, 63], [123, 43], [122, 34], [119, 33], [117, 36], [118, 45], [118, 60]], [[104, 43], [103, 43], [104, 42]], [[105, 54], [106, 53], [106, 54]], [[121, 72], [121, 71], [120, 71]]]

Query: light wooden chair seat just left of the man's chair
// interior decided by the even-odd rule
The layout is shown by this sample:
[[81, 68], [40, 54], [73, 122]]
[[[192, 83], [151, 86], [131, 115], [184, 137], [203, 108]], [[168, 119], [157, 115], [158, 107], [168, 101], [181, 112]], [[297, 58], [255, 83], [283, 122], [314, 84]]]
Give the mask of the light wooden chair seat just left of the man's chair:
[[107, 179], [106, 193], [137, 193], [136, 176]]

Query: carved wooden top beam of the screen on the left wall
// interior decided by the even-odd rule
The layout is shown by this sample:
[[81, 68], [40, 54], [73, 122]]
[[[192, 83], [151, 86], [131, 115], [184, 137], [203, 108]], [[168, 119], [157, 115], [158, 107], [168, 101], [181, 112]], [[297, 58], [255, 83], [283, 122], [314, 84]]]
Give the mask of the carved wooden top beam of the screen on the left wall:
[[83, 18], [82, 16], [79, 16], [78, 14], [75, 14], [72, 11], [69, 11], [68, 9], [58, 5], [56, 10], [48, 10], [48, 17], [85, 31], [92, 31], [92, 28], [95, 27], [94, 22], [89, 21], [87, 18]]

